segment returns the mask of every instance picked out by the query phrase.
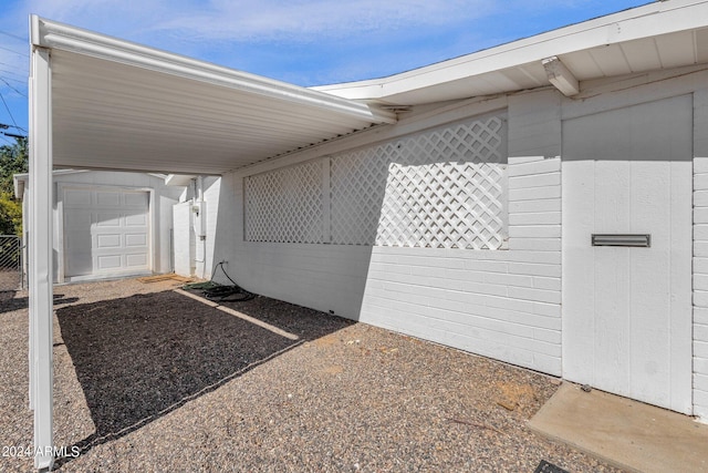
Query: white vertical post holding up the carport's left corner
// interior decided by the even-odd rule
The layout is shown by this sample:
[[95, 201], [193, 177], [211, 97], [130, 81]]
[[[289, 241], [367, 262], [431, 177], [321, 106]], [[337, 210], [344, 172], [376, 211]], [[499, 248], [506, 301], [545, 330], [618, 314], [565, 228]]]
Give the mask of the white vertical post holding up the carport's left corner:
[[[32, 24], [37, 27], [37, 24]], [[50, 51], [32, 48], [30, 104], [30, 399], [34, 409], [34, 467], [53, 457], [52, 357], [52, 72]]]

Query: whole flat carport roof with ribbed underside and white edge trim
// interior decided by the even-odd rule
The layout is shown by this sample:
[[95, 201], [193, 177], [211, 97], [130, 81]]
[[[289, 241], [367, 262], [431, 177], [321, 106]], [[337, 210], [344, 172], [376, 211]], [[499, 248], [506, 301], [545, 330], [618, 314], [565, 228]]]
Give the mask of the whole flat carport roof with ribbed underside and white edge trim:
[[395, 114], [32, 17], [58, 167], [222, 174]]

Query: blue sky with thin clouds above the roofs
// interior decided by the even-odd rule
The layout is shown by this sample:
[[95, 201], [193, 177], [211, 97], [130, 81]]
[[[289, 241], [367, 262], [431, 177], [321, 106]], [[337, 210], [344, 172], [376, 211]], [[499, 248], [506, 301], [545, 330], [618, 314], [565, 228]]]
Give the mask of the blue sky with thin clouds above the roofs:
[[28, 128], [30, 13], [310, 86], [391, 75], [649, 2], [3, 0], [0, 123]]

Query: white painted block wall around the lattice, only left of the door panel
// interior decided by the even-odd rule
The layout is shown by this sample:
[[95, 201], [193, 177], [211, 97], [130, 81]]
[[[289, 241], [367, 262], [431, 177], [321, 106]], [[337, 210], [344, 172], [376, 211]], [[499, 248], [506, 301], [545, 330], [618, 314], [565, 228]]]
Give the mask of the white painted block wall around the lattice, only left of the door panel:
[[[243, 241], [242, 172], [223, 179], [236, 199], [230, 273], [258, 294], [560, 374], [558, 103], [552, 92], [509, 103], [509, 249]], [[454, 114], [486, 112], [470, 105]], [[352, 147], [366, 144], [364, 134]]]

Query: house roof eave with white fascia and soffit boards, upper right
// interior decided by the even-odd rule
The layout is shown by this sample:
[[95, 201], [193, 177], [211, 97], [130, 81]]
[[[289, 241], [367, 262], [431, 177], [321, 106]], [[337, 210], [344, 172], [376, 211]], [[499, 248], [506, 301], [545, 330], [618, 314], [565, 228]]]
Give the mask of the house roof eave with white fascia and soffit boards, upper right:
[[666, 0], [553, 30], [388, 78], [313, 88], [392, 105], [550, 85], [558, 56], [579, 80], [708, 63], [708, 1]]

